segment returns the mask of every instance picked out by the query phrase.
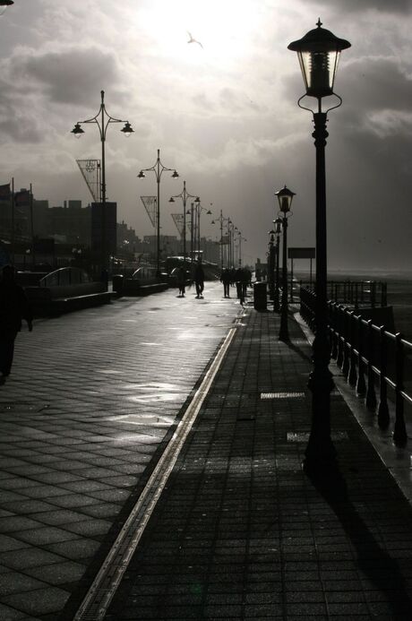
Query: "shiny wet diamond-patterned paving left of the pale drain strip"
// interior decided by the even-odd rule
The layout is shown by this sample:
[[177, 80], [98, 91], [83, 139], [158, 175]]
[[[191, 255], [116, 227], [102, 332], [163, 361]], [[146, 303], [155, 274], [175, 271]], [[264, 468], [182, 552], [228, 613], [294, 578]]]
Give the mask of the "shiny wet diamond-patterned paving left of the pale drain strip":
[[53, 619], [88, 585], [238, 315], [149, 298], [38, 320], [0, 386], [0, 618]]

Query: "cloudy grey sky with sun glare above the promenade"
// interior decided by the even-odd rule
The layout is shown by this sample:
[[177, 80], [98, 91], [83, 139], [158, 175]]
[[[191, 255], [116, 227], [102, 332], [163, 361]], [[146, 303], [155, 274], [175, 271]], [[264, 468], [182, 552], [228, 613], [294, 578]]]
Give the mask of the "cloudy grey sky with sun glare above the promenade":
[[288, 44], [318, 18], [351, 43], [335, 83], [343, 104], [328, 115], [329, 269], [412, 270], [412, 0], [15, 0], [0, 17], [0, 184], [88, 204], [76, 160], [100, 158], [99, 130], [71, 130], [104, 90], [108, 114], [134, 130], [107, 128], [107, 200], [137, 235], [154, 234], [140, 196], [156, 194], [156, 178], [137, 175], [160, 149], [180, 175], [161, 177], [163, 234], [177, 235], [183, 204], [168, 199], [185, 180], [202, 199], [202, 235], [219, 239], [206, 211], [221, 210], [246, 240], [244, 262], [264, 261], [274, 193], [288, 185], [288, 245], [314, 246], [313, 119], [297, 107]]

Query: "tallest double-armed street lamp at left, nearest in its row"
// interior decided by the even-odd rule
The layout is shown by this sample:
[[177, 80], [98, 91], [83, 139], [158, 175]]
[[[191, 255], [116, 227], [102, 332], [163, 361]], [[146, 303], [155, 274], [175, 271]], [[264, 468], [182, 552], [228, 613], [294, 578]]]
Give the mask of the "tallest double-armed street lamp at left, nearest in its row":
[[99, 127], [100, 134], [100, 142], [101, 142], [101, 182], [100, 182], [100, 210], [101, 210], [101, 268], [102, 274], [107, 270], [107, 250], [110, 251], [110, 248], [107, 248], [107, 226], [106, 226], [106, 160], [105, 160], [105, 142], [106, 142], [106, 134], [107, 127], [111, 123], [124, 123], [124, 127], [120, 130], [126, 137], [129, 137], [130, 134], [133, 134], [132, 125], [130, 125], [129, 121], [122, 121], [119, 118], [114, 118], [107, 113], [105, 107], [105, 91], [100, 91], [101, 103], [99, 112], [96, 116], [92, 118], [88, 118], [85, 121], [80, 121], [74, 125], [71, 134], [73, 134], [76, 138], [80, 138], [82, 134], [84, 134], [84, 130], [82, 129], [82, 124], [84, 123], [95, 123]]

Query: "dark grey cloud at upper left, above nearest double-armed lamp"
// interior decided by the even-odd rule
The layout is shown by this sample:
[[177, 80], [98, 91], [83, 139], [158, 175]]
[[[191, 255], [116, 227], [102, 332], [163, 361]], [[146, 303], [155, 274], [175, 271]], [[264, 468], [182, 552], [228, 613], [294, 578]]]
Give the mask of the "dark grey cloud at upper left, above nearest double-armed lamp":
[[91, 93], [118, 80], [115, 56], [96, 47], [20, 56], [13, 65], [15, 75], [39, 82], [47, 99], [56, 103], [88, 103]]

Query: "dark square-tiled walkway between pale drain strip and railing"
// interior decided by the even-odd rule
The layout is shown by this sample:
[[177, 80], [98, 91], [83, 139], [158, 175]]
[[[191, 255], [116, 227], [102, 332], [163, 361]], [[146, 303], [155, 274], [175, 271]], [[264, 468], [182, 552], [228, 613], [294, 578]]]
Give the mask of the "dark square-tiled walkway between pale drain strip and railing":
[[339, 392], [344, 485], [300, 468], [310, 348], [248, 310], [108, 619], [412, 619], [412, 509]]

